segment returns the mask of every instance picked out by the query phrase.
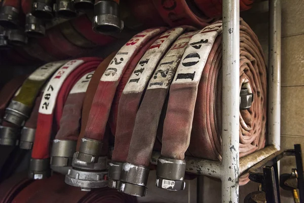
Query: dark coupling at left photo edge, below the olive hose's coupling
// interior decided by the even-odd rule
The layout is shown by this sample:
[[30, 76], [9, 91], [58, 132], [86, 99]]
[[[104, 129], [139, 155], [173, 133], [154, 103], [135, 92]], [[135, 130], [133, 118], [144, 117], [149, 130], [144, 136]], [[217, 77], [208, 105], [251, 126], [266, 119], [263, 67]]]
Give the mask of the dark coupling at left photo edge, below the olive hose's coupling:
[[20, 137], [20, 129], [0, 126], [0, 145], [16, 146]]

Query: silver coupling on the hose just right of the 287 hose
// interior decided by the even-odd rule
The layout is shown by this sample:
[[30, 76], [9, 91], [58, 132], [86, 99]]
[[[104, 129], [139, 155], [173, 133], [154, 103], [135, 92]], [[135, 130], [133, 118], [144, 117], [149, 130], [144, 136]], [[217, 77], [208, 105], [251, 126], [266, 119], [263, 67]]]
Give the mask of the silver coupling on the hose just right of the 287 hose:
[[51, 168], [60, 174], [67, 174], [72, 168], [73, 154], [77, 142], [72, 140], [54, 140], [51, 154]]

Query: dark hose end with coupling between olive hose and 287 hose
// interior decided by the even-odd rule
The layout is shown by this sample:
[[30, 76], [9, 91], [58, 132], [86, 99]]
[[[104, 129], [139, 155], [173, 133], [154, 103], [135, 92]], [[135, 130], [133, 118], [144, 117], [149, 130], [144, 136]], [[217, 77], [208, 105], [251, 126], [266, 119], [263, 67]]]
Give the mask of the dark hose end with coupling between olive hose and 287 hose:
[[44, 90], [41, 91], [37, 96], [32, 112], [21, 130], [21, 137], [19, 143], [20, 149], [31, 150], [33, 147], [35, 132], [37, 128], [38, 111], [42, 100], [43, 92]]

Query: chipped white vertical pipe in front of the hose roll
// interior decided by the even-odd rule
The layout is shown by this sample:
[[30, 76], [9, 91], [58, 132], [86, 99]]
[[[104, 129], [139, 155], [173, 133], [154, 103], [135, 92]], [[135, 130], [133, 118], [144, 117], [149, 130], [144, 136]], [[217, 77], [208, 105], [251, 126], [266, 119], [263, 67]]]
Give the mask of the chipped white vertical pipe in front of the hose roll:
[[223, 0], [222, 202], [239, 202], [240, 1]]

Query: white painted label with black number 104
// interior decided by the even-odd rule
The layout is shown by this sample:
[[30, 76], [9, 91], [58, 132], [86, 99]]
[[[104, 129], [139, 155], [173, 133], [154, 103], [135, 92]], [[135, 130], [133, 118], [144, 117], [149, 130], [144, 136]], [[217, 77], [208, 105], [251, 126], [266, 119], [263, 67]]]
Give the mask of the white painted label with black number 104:
[[174, 83], [198, 83], [216, 37], [222, 32], [222, 23], [212, 24], [192, 37], [178, 65]]

